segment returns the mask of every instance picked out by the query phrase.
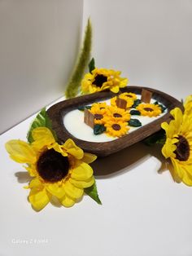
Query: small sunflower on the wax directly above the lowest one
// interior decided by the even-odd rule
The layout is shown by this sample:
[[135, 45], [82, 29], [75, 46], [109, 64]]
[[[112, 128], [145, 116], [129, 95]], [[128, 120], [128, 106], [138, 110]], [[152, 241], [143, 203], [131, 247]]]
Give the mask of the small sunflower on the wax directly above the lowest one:
[[107, 108], [107, 117], [108, 120], [114, 120], [114, 121], [129, 121], [131, 116], [128, 113], [128, 111], [125, 111], [123, 108], [116, 108], [113, 106], [110, 106]]

